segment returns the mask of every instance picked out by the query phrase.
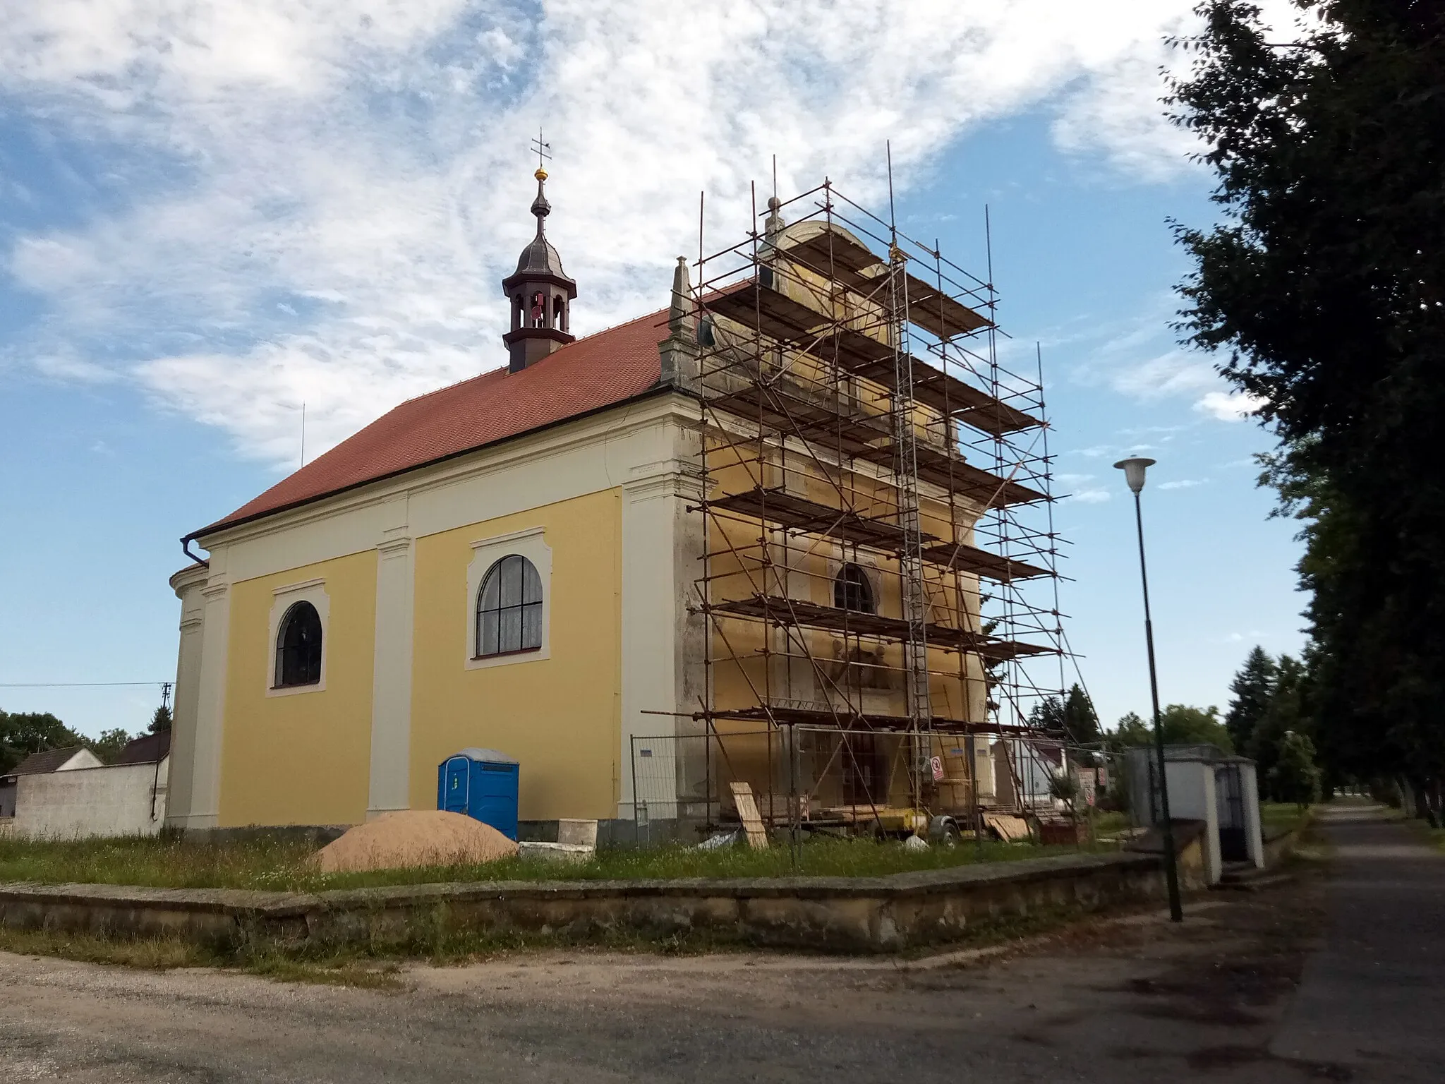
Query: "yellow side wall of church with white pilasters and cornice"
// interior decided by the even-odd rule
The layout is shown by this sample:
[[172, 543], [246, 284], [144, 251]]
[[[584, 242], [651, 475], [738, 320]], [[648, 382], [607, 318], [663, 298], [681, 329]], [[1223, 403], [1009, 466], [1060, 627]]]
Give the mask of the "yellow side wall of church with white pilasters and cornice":
[[[581, 419], [207, 536], [210, 567], [172, 580], [172, 821], [434, 808], [436, 766], [468, 746], [522, 763], [522, 820], [618, 817], [630, 731], [659, 730], [643, 710], [685, 705], [672, 551], [695, 413], [652, 396], [626, 421]], [[480, 584], [510, 555], [538, 571], [540, 643], [478, 658]], [[306, 601], [319, 681], [277, 688], [279, 624]]]

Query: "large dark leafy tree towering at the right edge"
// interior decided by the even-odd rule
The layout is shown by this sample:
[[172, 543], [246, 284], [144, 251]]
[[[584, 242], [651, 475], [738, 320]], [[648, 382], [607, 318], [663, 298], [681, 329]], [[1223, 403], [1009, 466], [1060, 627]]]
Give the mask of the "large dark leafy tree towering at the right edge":
[[1308, 711], [1335, 775], [1445, 776], [1445, 4], [1300, 0], [1266, 32], [1208, 0], [1170, 91], [1224, 221], [1181, 331], [1280, 439], [1263, 481], [1300, 520]]

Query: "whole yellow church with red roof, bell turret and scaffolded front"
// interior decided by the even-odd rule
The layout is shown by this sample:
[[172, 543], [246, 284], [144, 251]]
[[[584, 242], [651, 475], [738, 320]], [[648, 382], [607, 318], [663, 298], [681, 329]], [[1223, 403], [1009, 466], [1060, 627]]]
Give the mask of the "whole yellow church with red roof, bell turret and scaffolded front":
[[[184, 539], [207, 555], [171, 578], [168, 824], [435, 808], [467, 747], [519, 762], [523, 824], [636, 822], [643, 801], [709, 821], [724, 762], [773, 814], [783, 730], [790, 809], [985, 799], [988, 689], [1040, 649], [990, 632], [980, 578], [1048, 569], [978, 548], [975, 525], [1046, 494], [967, 463], [961, 434], [1040, 422], [915, 354], [988, 319], [831, 204], [789, 227], [775, 198], [747, 278], [694, 291], [679, 257], [656, 312], [575, 338], [536, 179], [501, 283], [507, 367]], [[803, 740], [838, 727], [841, 752]], [[683, 741], [704, 733], [736, 740]], [[676, 744], [642, 749], [659, 736]]]

